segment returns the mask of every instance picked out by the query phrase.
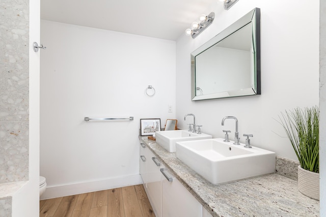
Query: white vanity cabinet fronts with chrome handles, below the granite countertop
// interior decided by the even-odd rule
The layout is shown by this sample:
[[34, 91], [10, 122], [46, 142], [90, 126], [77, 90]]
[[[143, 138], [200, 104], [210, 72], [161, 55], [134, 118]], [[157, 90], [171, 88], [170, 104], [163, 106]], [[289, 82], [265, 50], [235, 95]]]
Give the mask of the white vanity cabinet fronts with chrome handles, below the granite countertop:
[[140, 174], [156, 217], [211, 217], [209, 212], [142, 143], [142, 140]]

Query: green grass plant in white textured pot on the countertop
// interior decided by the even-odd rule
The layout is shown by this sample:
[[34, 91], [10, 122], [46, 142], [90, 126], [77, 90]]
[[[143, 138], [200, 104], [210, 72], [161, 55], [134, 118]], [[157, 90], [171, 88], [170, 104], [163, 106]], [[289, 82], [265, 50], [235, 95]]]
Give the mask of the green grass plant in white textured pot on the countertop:
[[298, 190], [319, 200], [319, 108], [297, 107], [281, 114], [280, 123], [300, 162]]

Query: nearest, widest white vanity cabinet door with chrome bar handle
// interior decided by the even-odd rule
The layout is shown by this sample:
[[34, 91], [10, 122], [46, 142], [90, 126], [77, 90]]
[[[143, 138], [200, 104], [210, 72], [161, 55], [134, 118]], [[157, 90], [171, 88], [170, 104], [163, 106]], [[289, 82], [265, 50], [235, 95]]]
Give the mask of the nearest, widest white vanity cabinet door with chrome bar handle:
[[[169, 174], [163, 171], [167, 177], [162, 177], [162, 216], [163, 217], [201, 217], [202, 205], [188, 190]], [[172, 181], [168, 181], [168, 178]], [[171, 180], [171, 179], [170, 179]]]

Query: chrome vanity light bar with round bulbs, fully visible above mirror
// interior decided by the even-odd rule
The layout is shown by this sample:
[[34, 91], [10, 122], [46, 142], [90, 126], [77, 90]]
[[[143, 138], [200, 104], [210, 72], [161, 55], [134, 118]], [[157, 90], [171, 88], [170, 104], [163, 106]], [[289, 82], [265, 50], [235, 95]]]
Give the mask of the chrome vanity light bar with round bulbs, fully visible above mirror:
[[186, 29], [184, 34], [187, 36], [192, 36], [196, 38], [201, 32], [203, 32], [210, 24], [213, 23], [215, 18], [215, 13], [211, 12], [207, 16], [205, 14], [201, 14], [198, 21], [195, 21], [191, 25], [191, 29]]

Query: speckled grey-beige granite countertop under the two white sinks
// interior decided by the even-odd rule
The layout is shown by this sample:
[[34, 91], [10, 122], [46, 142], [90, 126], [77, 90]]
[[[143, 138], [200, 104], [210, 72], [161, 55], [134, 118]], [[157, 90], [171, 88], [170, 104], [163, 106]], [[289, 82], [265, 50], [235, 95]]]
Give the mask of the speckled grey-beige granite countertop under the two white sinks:
[[[297, 190], [297, 181], [268, 174], [213, 185], [155, 141], [147, 147], [213, 216], [319, 216], [319, 201]], [[232, 171], [230, 171], [232, 172]]]

